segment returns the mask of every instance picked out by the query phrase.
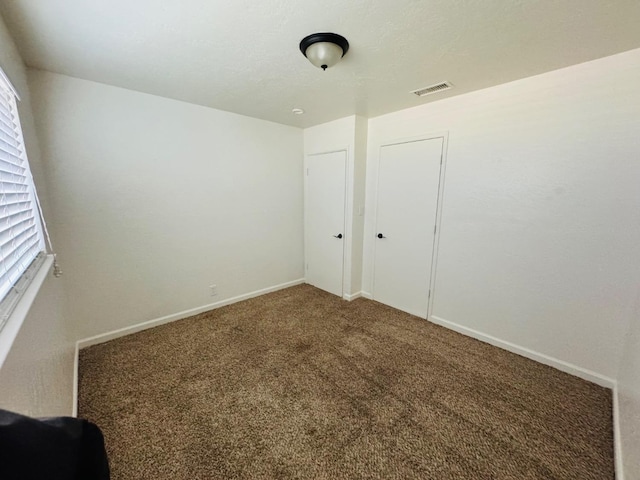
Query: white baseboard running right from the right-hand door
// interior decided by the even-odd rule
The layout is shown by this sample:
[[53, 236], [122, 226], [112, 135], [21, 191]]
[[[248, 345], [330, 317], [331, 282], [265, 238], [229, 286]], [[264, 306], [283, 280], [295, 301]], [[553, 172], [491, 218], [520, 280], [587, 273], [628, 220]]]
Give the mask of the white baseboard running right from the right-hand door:
[[578, 367], [577, 365], [573, 365], [563, 360], [550, 357], [529, 348], [521, 347], [520, 345], [516, 345], [515, 343], [507, 342], [491, 335], [486, 335], [484, 333], [478, 332], [477, 330], [463, 327], [462, 325], [450, 322], [449, 320], [445, 320], [444, 318], [432, 315], [428, 320], [437, 325], [441, 325], [450, 330], [454, 330], [458, 333], [462, 333], [463, 335], [467, 335], [468, 337], [475, 338], [490, 345], [500, 347], [509, 352], [530, 358], [531, 360], [535, 360], [536, 362], [542, 363], [544, 365], [549, 365], [550, 367], [557, 368], [562, 372], [569, 373], [584, 380], [588, 380], [589, 382], [593, 382], [602, 387], [614, 388], [616, 385], [616, 381], [612, 378], [605, 377], [604, 375], [600, 375], [599, 373], [587, 370], [582, 367]]

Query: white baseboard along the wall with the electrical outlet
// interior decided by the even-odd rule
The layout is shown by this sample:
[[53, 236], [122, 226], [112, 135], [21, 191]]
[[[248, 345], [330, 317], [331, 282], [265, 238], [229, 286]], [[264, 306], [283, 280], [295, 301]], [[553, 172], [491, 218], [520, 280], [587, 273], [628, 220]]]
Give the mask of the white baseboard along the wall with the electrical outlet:
[[78, 340], [77, 347], [78, 349], [82, 349], [82, 348], [90, 347], [92, 345], [98, 345], [100, 343], [108, 342], [109, 340], [114, 340], [116, 338], [124, 337], [126, 335], [131, 335], [132, 333], [141, 332], [149, 328], [157, 327], [159, 325], [164, 325], [165, 323], [175, 322], [176, 320], [181, 320], [183, 318], [191, 317], [193, 315], [198, 315], [199, 313], [202, 313], [202, 312], [207, 312], [209, 310], [214, 310], [216, 308], [225, 307], [227, 305], [231, 305], [232, 303], [241, 302], [242, 300], [248, 300], [249, 298], [259, 297], [260, 295], [264, 295], [266, 293], [275, 292], [277, 290], [293, 287], [295, 285], [300, 285], [302, 283], [304, 283], [304, 278], [299, 278], [291, 282], [281, 283], [280, 285], [274, 285], [273, 287], [263, 288], [261, 290], [256, 290], [254, 292], [238, 295], [237, 297], [227, 298], [225, 300], [221, 300], [216, 303], [210, 303], [209, 305], [203, 305], [201, 307], [191, 308], [189, 310], [184, 310], [182, 312], [174, 313], [172, 315], [156, 318], [154, 320], [148, 320], [146, 322], [138, 323], [136, 325], [131, 325], [130, 327], [124, 327], [118, 330], [113, 330], [111, 332], [95, 335], [93, 337], [83, 338], [81, 340]]

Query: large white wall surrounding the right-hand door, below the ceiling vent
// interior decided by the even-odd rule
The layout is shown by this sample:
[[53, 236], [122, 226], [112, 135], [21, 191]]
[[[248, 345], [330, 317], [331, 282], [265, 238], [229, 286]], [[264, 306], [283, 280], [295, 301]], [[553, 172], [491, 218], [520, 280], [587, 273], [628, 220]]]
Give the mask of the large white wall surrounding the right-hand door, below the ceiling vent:
[[381, 143], [449, 132], [434, 319], [616, 377], [640, 280], [638, 85], [634, 50], [369, 121], [367, 212]]

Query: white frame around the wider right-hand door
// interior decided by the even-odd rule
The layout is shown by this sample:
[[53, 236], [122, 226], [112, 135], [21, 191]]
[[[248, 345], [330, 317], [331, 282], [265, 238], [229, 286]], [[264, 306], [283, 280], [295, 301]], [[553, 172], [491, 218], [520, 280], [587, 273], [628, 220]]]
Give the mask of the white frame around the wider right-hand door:
[[[393, 145], [402, 145], [404, 143], [414, 143], [414, 142], [421, 142], [424, 140], [434, 140], [436, 138], [442, 139], [442, 151], [440, 153], [440, 159], [441, 159], [440, 176], [438, 178], [438, 198], [437, 198], [437, 206], [436, 206], [436, 223], [435, 223], [436, 232], [433, 238], [433, 248], [431, 251], [431, 271], [429, 272], [430, 294], [428, 294], [428, 299], [427, 299], [427, 318], [426, 318], [427, 320], [431, 318], [431, 314], [433, 311], [433, 300], [435, 298], [435, 291], [436, 291], [436, 288], [435, 288], [436, 272], [437, 272], [437, 266], [438, 266], [438, 248], [440, 246], [440, 232], [442, 230], [441, 228], [442, 204], [443, 204], [443, 198], [444, 198], [445, 173], [447, 169], [449, 132], [448, 131], [433, 132], [433, 133], [427, 133], [427, 134], [417, 135], [412, 137], [391, 139], [391, 140], [387, 140], [379, 143], [377, 145], [378, 158], [375, 163], [376, 165], [375, 178], [374, 178], [375, 189], [373, 192], [373, 198], [371, 203], [371, 206], [373, 208], [373, 212], [371, 212], [372, 219], [373, 219], [373, 230], [374, 230], [373, 234], [376, 235], [378, 232], [378, 186], [380, 183], [380, 160], [382, 158], [382, 148], [390, 147]], [[373, 298], [375, 297], [376, 248], [377, 248], [378, 242], [375, 240], [372, 240], [372, 241], [373, 241], [373, 248], [371, 249], [371, 258], [369, 260], [370, 262], [369, 265], [370, 265], [370, 272], [371, 272], [371, 297]]]

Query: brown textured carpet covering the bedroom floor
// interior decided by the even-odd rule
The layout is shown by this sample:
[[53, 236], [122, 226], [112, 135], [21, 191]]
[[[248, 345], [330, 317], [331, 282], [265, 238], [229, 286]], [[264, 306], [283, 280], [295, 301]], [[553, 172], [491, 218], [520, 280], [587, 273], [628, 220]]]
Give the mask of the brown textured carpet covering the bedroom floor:
[[611, 392], [301, 285], [80, 353], [115, 480], [614, 478]]

